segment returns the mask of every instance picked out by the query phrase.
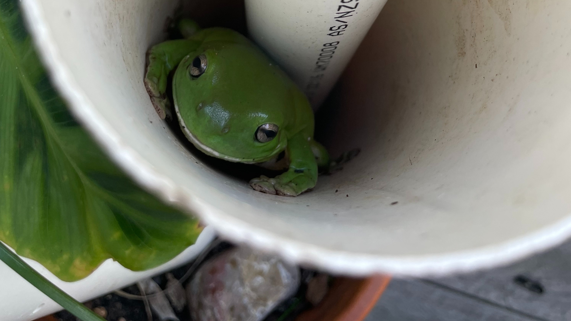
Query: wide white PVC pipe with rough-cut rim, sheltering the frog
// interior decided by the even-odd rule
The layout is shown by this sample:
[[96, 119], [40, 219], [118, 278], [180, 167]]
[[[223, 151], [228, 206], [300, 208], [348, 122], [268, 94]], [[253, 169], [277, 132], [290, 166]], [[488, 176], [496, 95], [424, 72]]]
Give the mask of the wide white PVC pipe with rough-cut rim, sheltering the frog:
[[216, 171], [156, 115], [144, 53], [177, 1], [22, 3], [55, 85], [107, 153], [235, 242], [332, 272], [419, 276], [571, 234], [569, 1], [389, 0], [317, 133], [334, 157], [361, 154], [297, 198]]

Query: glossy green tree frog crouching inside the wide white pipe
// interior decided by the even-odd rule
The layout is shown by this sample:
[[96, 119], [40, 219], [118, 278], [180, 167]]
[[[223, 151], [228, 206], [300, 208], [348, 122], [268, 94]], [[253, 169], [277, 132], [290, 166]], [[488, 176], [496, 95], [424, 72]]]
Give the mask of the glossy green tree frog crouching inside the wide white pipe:
[[172, 105], [186, 138], [200, 151], [230, 162], [287, 171], [250, 180], [256, 191], [297, 196], [317, 183], [327, 150], [313, 139], [308, 99], [262, 50], [238, 32], [182, 19], [183, 39], [147, 52], [144, 85], [162, 119]]

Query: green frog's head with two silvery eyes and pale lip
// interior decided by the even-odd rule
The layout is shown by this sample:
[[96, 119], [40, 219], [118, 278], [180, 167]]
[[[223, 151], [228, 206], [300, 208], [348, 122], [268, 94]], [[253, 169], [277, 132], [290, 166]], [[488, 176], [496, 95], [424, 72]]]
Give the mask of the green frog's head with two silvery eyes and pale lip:
[[200, 150], [258, 163], [286, 148], [295, 85], [249, 43], [214, 43], [189, 54], [172, 85], [176, 114]]

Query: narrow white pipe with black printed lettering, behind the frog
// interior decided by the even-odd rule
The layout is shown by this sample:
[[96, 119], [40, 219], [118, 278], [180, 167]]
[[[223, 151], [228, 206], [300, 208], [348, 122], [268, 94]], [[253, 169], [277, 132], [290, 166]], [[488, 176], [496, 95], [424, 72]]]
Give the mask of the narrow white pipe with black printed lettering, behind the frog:
[[387, 0], [246, 0], [248, 32], [317, 110]]

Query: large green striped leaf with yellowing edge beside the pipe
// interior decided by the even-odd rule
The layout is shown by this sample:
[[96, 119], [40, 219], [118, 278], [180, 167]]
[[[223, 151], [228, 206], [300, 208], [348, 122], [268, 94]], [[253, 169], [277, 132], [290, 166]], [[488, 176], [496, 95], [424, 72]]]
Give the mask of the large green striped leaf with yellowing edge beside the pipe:
[[75, 121], [18, 1], [0, 0], [0, 240], [73, 281], [107, 258], [131, 270], [158, 266], [200, 231], [136, 186]]

